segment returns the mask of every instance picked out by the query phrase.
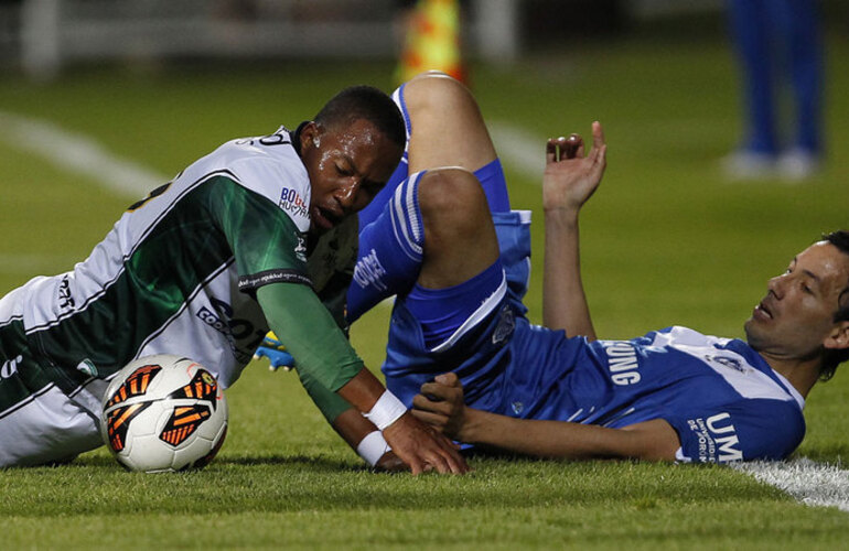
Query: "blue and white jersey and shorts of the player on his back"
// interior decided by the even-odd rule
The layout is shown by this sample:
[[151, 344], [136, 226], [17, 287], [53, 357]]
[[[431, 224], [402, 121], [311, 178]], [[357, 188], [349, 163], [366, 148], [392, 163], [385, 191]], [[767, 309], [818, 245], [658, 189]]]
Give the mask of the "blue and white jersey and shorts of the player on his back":
[[685, 462], [778, 460], [805, 435], [804, 399], [742, 341], [670, 327], [588, 343], [505, 312], [433, 354], [412, 352], [416, 322], [397, 306], [387, 387], [409, 401], [417, 385], [450, 369], [468, 404], [494, 413], [614, 429], [664, 419]]

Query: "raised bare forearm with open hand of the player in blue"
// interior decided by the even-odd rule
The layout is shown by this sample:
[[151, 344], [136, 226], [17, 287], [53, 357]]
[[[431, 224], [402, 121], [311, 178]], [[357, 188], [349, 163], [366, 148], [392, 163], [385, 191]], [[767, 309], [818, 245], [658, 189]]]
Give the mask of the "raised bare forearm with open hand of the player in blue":
[[581, 281], [578, 215], [601, 183], [606, 144], [601, 123], [592, 125], [593, 147], [584, 156], [578, 134], [548, 140], [542, 176], [546, 252], [542, 282], [542, 323], [566, 329], [568, 336], [595, 339]]

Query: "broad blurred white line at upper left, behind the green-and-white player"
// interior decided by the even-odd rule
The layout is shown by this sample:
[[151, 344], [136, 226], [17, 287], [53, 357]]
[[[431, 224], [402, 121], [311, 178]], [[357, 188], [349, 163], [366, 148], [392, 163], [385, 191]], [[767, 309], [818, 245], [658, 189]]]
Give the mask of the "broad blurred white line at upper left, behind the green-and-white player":
[[87, 136], [58, 126], [0, 111], [0, 140], [34, 153], [60, 169], [90, 177], [107, 190], [143, 197], [168, 181], [149, 169], [121, 159]]

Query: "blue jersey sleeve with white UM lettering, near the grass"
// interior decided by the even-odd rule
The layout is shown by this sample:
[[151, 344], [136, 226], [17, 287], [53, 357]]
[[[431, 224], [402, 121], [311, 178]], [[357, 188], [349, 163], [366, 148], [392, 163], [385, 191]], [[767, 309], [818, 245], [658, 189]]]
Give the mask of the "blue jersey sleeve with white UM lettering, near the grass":
[[784, 400], [743, 399], [666, 420], [678, 433], [684, 462], [783, 460], [805, 435], [802, 412]]

